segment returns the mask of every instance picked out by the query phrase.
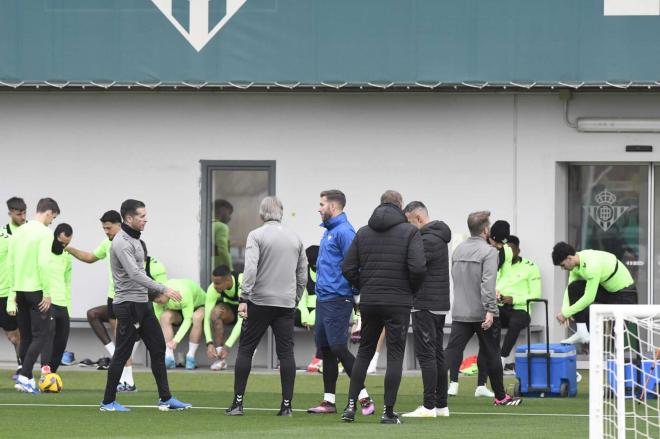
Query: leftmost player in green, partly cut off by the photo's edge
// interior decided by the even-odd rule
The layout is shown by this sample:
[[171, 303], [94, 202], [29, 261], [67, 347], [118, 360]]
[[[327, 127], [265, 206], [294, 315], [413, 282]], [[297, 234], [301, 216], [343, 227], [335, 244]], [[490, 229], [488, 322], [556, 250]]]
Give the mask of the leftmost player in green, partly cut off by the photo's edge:
[[7, 267], [7, 252], [9, 251], [9, 240], [14, 231], [25, 224], [25, 201], [22, 198], [12, 197], [7, 200], [9, 211], [9, 222], [0, 228], [0, 328], [5, 331], [7, 339], [14, 346], [18, 367], [21, 366], [19, 356], [20, 335], [18, 333], [18, 322], [16, 315], [7, 312], [7, 299], [9, 298], [9, 271]]

